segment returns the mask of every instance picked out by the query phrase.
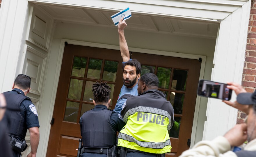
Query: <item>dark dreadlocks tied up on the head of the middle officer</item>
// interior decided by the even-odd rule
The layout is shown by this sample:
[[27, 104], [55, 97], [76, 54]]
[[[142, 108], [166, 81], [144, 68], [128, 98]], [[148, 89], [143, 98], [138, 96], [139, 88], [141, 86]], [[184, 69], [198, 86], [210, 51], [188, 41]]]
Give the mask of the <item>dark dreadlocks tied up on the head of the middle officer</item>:
[[110, 89], [107, 82], [96, 82], [93, 83], [92, 91], [95, 103], [107, 103], [110, 97]]

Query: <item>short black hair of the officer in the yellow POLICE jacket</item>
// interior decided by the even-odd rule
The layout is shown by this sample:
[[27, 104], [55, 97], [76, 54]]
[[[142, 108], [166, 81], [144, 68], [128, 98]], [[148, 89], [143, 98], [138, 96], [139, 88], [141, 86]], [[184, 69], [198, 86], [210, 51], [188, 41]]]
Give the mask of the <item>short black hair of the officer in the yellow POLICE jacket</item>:
[[159, 80], [158, 80], [158, 77], [157, 75], [151, 73], [151, 72], [148, 72], [144, 75], [141, 76], [140, 78], [140, 81], [141, 82], [145, 82], [147, 87], [158, 87], [158, 83], [159, 83]]

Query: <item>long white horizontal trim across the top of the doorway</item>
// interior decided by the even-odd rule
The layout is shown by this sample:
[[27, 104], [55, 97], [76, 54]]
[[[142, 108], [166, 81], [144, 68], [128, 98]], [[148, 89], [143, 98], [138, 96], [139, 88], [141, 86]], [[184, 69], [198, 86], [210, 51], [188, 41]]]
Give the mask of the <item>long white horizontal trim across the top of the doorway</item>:
[[[205, 1], [155, 1], [154, 3], [147, 2], [148, 7], [143, 7], [145, 4], [136, 3], [134, 1], [108, 1], [105, 3], [104, 0], [88, 0], [88, 1], [69, 1], [63, 0], [61, 3], [58, 0], [28, 0], [33, 3], [40, 4], [52, 4], [58, 6], [72, 6], [79, 8], [90, 8], [95, 10], [110, 10], [120, 11], [124, 9], [124, 6], [129, 6], [132, 13], [137, 14], [149, 14], [163, 17], [176, 17], [186, 19], [197, 19], [205, 21], [221, 21], [225, 19], [237, 8], [243, 6], [246, 1], [237, 0], [209, 0]], [[104, 3], [104, 7], [102, 7]], [[203, 3], [203, 4], [202, 4]], [[116, 4], [116, 5], [115, 5]], [[123, 6], [123, 7], [122, 7]], [[150, 9], [152, 7], [158, 8], [156, 10]], [[178, 10], [177, 10], [178, 9]], [[189, 9], [189, 10], [187, 10]], [[159, 11], [161, 10], [161, 11]], [[193, 12], [194, 10], [195, 12]], [[196, 12], [202, 12], [198, 14]]]

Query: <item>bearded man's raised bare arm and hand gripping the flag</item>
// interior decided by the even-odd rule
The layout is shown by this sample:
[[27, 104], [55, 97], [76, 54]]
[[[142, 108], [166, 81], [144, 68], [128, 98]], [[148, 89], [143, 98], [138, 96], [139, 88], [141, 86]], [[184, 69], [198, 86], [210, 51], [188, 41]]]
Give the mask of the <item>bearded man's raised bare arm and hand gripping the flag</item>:
[[127, 62], [130, 60], [130, 54], [129, 54], [127, 42], [125, 40], [125, 33], [124, 33], [124, 29], [127, 26], [127, 24], [123, 19], [124, 17], [118, 23], [119, 45], [120, 45], [120, 51], [121, 51], [121, 56], [123, 58], [123, 61]]

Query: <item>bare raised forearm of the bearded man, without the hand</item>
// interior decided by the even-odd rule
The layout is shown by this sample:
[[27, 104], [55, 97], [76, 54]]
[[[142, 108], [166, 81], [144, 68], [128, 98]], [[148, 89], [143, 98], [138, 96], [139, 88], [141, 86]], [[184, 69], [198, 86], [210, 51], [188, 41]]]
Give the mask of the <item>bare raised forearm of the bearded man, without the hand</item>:
[[120, 45], [121, 56], [123, 61], [127, 62], [130, 60], [130, 53], [129, 53], [127, 42], [125, 40], [124, 30], [118, 30], [118, 34], [119, 34], [119, 45]]

